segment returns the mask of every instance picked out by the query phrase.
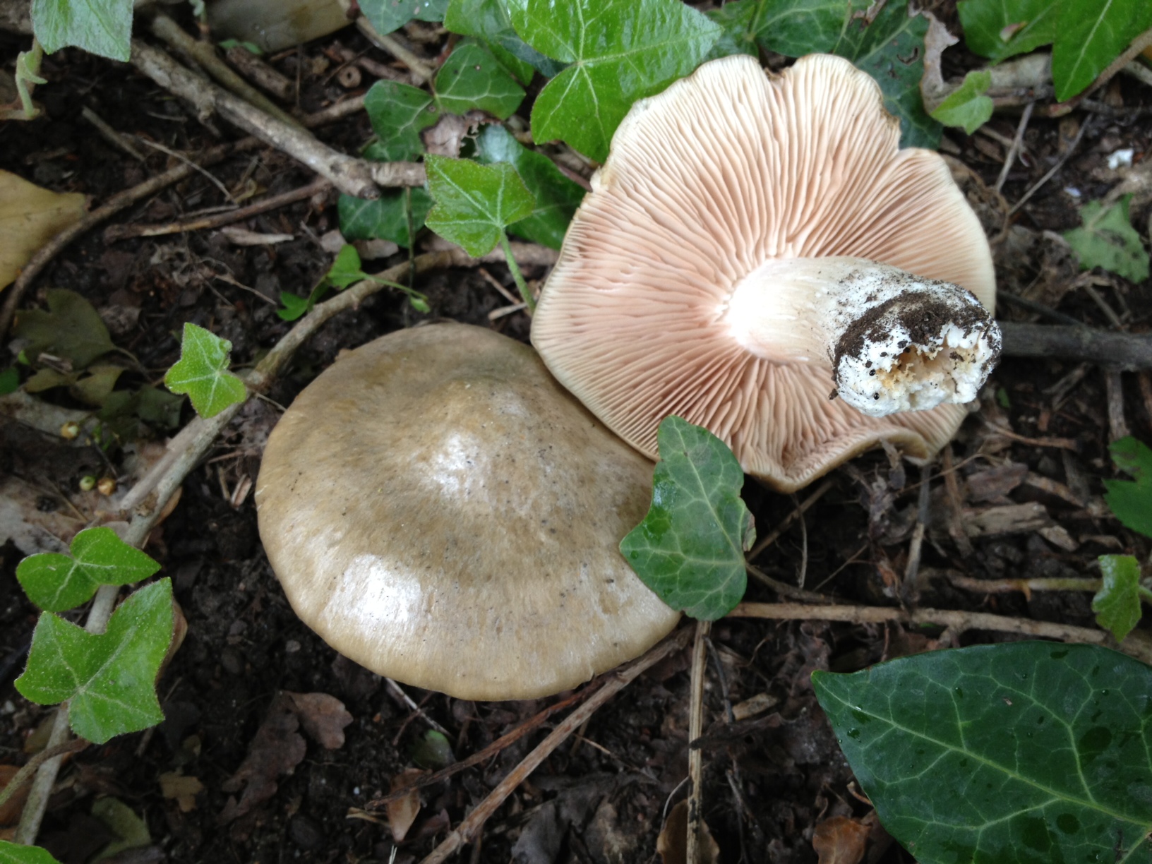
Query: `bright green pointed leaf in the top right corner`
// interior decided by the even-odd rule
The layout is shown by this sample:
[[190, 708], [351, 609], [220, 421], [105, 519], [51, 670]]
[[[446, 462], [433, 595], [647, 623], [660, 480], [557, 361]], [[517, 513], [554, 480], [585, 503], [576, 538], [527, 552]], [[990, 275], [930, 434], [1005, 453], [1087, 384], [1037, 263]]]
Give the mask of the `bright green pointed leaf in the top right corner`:
[[1149, 28], [1147, 0], [1060, 0], [1052, 46], [1052, 82], [1064, 101], [1085, 90], [1113, 60]]

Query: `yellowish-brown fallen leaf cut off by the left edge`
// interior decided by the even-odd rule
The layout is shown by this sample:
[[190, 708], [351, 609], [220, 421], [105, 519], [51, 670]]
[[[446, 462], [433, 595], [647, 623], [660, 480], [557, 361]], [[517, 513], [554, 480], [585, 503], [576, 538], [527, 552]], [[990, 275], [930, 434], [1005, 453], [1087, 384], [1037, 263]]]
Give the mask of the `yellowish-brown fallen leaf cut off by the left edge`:
[[84, 215], [79, 192], [53, 192], [0, 170], [0, 288], [53, 236]]

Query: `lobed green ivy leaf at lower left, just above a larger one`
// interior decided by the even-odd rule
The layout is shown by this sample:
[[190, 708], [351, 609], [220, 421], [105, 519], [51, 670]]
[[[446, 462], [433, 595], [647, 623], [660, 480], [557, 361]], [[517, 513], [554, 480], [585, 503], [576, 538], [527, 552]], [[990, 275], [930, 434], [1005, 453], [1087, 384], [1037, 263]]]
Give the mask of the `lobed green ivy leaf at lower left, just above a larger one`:
[[16, 567], [16, 578], [28, 598], [48, 612], [63, 612], [88, 602], [100, 585], [129, 585], [160, 569], [111, 528], [89, 528], [71, 541], [70, 555], [43, 552]]

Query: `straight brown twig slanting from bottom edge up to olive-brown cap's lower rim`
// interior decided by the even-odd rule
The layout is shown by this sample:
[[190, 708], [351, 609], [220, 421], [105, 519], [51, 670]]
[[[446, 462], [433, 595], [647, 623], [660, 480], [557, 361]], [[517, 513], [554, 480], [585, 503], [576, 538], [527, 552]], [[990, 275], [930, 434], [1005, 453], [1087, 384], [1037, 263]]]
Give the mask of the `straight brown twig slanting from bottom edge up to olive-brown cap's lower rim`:
[[494, 813], [505, 802], [505, 799], [511, 795], [513, 790], [524, 782], [524, 780], [526, 780], [528, 776], [536, 771], [536, 768], [539, 767], [545, 759], [548, 758], [552, 751], [560, 746], [564, 740], [579, 727], [581, 723], [594, 714], [597, 708], [607, 703], [613, 696], [635, 681], [636, 677], [645, 669], [683, 649], [684, 645], [688, 644], [688, 639], [691, 637], [691, 634], [692, 631], [689, 628], [681, 628], [643, 657], [632, 660], [630, 664], [622, 666], [615, 672], [609, 673], [604, 687], [597, 690], [588, 702], [566, 717], [563, 722], [556, 726], [548, 737], [541, 741], [536, 749], [532, 750], [532, 752], [525, 756], [523, 761], [521, 761], [520, 765], [517, 765], [508, 774], [508, 776], [501, 780], [500, 783], [497, 785], [491, 793], [488, 793], [488, 796], [477, 804], [472, 812], [464, 817], [464, 820], [454, 831], [449, 832], [440, 846], [433, 849], [432, 854], [424, 858], [420, 864], [442, 864], [442, 862], [447, 861], [453, 854], [456, 852], [457, 849], [464, 846], [464, 843], [470, 842], [488, 817], [491, 817], [492, 813]]

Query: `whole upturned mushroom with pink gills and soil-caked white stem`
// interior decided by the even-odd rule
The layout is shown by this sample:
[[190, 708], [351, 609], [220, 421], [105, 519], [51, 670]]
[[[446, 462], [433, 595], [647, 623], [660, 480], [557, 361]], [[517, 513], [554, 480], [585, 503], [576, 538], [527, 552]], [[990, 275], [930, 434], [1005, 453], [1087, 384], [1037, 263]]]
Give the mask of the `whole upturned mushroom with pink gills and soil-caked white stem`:
[[620, 124], [532, 343], [651, 457], [679, 415], [781, 491], [880, 441], [927, 458], [999, 356], [995, 281], [943, 160], [899, 138], [841, 58], [704, 63]]

